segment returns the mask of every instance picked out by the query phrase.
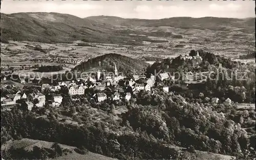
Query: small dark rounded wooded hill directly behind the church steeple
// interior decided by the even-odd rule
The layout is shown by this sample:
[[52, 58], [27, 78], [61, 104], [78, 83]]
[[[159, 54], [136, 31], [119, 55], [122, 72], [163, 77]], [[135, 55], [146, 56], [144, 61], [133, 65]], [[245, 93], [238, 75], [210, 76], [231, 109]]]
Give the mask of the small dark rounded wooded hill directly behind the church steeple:
[[89, 59], [87, 62], [82, 62], [73, 70], [87, 71], [93, 68], [102, 68], [113, 72], [115, 65], [117, 66], [118, 72], [124, 72], [125, 74], [127, 71], [133, 71], [134, 69], [142, 71], [149, 64], [119, 54], [106, 54]]

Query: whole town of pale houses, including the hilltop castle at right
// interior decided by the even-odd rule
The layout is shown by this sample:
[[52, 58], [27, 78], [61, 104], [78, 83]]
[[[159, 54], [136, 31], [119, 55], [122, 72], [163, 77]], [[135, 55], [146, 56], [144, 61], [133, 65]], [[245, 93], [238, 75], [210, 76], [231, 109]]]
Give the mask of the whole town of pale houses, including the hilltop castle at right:
[[[199, 53], [197, 51], [196, 56], [182, 56], [181, 59], [202, 60], [202, 57], [199, 56]], [[160, 73], [157, 76], [158, 77], [156, 77], [153, 74], [151, 74], [149, 77], [146, 77], [145, 75], [133, 75], [132, 77], [127, 78], [125, 76], [118, 75], [117, 66], [115, 66], [114, 75], [112, 76], [102, 75], [102, 73], [98, 71], [95, 77], [82, 77], [74, 79], [72, 81], [57, 82], [56, 85], [41, 84], [41, 86], [39, 86], [39, 78], [30, 78], [27, 79], [27, 81], [25, 81], [24, 77], [21, 78], [17, 75], [2, 75], [1, 79], [4, 81], [6, 81], [8, 77], [8, 80], [15, 79], [13, 81], [16, 81], [21, 84], [32, 83], [35, 81], [37, 82], [34, 86], [32, 85], [32, 87], [35, 88], [35, 91], [33, 93], [26, 95], [26, 93], [19, 90], [16, 94], [7, 94], [4, 97], [1, 97], [1, 103], [3, 106], [2, 110], [11, 110], [12, 107], [16, 105], [21, 105], [20, 102], [24, 102], [24, 105], [30, 111], [33, 107], [42, 108], [46, 103], [50, 106], [58, 107], [63, 99], [63, 97], [60, 94], [66, 93], [63, 92], [63, 88], [68, 90], [67, 93], [71, 97], [75, 97], [75, 95], [84, 95], [86, 93], [89, 93], [90, 90], [93, 90], [93, 92], [90, 92], [89, 97], [90, 99], [93, 99], [98, 103], [106, 99], [112, 101], [129, 101], [131, 98], [134, 98], [136, 100], [136, 96], [141, 90], [144, 90], [146, 92], [152, 92], [152, 94], [154, 94], [154, 91], [152, 91], [153, 88], [161, 88], [161, 90], [163, 90], [166, 93], [172, 92], [169, 90], [169, 86], [163, 85], [162, 83], [158, 82], [163, 82], [165, 79], [175, 82], [175, 76], [169, 75], [168, 73]], [[156, 81], [156, 79], [158, 81]], [[180, 85], [180, 87], [183, 90], [187, 90], [188, 84], [183, 83]], [[24, 88], [26, 88], [26, 86], [24, 86]], [[107, 88], [113, 89], [113, 92], [111, 94], [106, 94], [106, 92], [108, 92]], [[46, 99], [46, 95], [44, 94], [46, 90], [48, 94], [49, 92], [54, 93], [52, 95], [53, 100]], [[20, 101], [20, 99], [23, 99], [23, 101]], [[80, 100], [77, 98], [72, 99], [75, 101]], [[217, 104], [218, 100], [219, 98], [213, 97], [211, 99], [211, 102]], [[230, 98], [227, 98], [225, 100], [225, 103], [230, 105]]]

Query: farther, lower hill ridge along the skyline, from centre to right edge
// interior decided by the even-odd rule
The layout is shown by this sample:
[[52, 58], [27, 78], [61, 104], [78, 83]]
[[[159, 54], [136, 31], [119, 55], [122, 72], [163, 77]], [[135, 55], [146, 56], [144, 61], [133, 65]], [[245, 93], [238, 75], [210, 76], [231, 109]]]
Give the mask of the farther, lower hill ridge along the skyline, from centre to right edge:
[[164, 19], [125, 19], [113, 16], [92, 16], [84, 19], [95, 20], [105, 24], [129, 27], [170, 26], [179, 29], [199, 29], [214, 31], [238, 30], [244, 33], [255, 33], [255, 18], [218, 18], [218, 17], [172, 17]]

